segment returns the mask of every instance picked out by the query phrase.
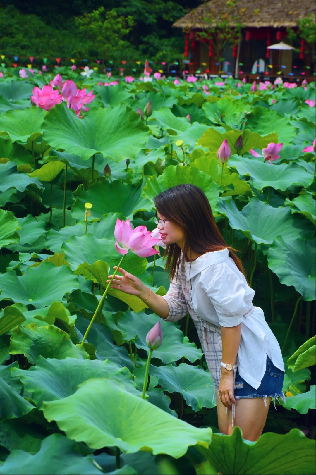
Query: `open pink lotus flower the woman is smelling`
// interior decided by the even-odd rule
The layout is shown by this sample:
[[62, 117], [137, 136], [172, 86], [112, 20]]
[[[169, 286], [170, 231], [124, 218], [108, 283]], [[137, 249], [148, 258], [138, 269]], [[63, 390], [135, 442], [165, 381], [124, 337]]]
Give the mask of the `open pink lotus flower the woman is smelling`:
[[[131, 250], [140, 257], [158, 254], [153, 246], [159, 242], [159, 239], [155, 239], [151, 234], [146, 226], [137, 226], [133, 229], [129, 219], [126, 221], [117, 219], [114, 230], [115, 249], [120, 254], [127, 254]], [[122, 247], [118, 243], [121, 243]]]

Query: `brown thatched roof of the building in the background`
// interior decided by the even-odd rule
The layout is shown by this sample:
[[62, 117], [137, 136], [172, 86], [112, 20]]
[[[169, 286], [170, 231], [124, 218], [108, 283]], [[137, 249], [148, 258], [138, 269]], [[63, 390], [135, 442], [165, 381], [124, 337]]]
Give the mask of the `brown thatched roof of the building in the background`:
[[172, 26], [183, 29], [210, 28], [216, 26], [216, 17], [227, 14], [231, 26], [236, 25], [239, 18], [244, 27], [295, 27], [299, 19], [309, 13], [315, 15], [315, 0], [237, 0], [236, 4], [237, 7], [230, 9], [226, 0], [211, 0], [192, 10]]

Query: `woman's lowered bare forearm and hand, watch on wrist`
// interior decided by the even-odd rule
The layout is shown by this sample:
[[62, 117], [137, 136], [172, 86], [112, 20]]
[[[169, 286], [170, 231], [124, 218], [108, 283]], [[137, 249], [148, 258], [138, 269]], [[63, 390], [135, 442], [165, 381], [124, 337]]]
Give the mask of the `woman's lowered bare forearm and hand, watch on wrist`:
[[[234, 327], [221, 327], [222, 357], [221, 361], [225, 364], [236, 363], [237, 353], [240, 344], [240, 325]], [[223, 405], [231, 409], [231, 403], [236, 404], [234, 398], [234, 371], [228, 371], [221, 366], [220, 377], [220, 400]]]

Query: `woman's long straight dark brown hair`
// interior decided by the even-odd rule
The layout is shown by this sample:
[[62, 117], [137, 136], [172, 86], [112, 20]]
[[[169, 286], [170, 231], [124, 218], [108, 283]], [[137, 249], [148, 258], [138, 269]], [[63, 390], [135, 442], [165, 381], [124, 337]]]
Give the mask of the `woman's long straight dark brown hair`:
[[[234, 260], [239, 271], [246, 277], [245, 270], [233, 247], [227, 246], [216, 225], [209, 200], [202, 190], [192, 184], [184, 184], [162, 191], [153, 199], [156, 210], [163, 218], [179, 226], [184, 233], [183, 259], [192, 262], [188, 256], [189, 249], [196, 254], [220, 251], [228, 248], [229, 256]], [[166, 246], [164, 258], [170, 277], [179, 272], [181, 257], [180, 247], [174, 243]], [[247, 277], [246, 277], [247, 279]]]

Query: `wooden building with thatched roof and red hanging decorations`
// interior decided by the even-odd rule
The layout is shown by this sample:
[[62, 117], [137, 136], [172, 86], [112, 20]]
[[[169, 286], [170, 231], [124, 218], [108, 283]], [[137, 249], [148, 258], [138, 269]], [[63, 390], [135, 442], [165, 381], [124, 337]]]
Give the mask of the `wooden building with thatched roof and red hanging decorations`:
[[[190, 72], [232, 74], [235, 77], [284, 76], [315, 79], [315, 44], [292, 40], [287, 28], [298, 33], [298, 21], [315, 19], [314, 0], [211, 0], [177, 20], [172, 26], [185, 34], [184, 67]], [[229, 40], [219, 61], [218, 38], [226, 22]], [[240, 34], [238, 34], [240, 31]], [[223, 40], [221, 40], [223, 41]], [[225, 40], [224, 40], [225, 41]], [[295, 50], [270, 50], [281, 41]]]

